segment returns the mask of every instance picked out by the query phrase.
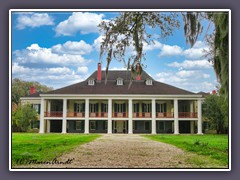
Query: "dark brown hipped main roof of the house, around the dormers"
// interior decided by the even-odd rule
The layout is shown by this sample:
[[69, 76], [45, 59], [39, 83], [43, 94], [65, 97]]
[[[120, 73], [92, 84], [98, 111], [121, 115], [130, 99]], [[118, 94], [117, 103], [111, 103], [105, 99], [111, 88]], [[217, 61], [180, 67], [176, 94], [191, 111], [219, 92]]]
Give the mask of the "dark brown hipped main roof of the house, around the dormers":
[[[117, 78], [123, 78], [123, 85], [117, 85]], [[97, 79], [95, 71], [88, 79]], [[95, 81], [93, 86], [88, 85], [88, 79], [63, 87], [57, 90], [49, 91], [44, 94], [155, 94], [155, 95], [194, 95], [195, 93], [186, 91], [165, 83], [153, 80], [153, 85], [146, 85], [145, 80], [151, 78], [145, 71], [142, 72], [141, 80], [134, 80], [129, 88], [131, 72], [128, 71], [109, 71], [108, 80], [105, 84], [105, 71], [102, 71], [102, 81]], [[152, 79], [152, 78], [151, 78]]]

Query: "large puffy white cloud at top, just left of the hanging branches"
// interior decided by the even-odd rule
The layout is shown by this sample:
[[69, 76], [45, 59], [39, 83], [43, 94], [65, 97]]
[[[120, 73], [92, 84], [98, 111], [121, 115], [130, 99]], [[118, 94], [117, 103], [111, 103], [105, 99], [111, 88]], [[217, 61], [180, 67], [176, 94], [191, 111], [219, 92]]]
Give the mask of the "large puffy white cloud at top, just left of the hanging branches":
[[67, 20], [60, 22], [55, 31], [58, 36], [72, 36], [78, 31], [82, 34], [97, 33], [97, 26], [103, 17], [103, 14], [74, 12]]

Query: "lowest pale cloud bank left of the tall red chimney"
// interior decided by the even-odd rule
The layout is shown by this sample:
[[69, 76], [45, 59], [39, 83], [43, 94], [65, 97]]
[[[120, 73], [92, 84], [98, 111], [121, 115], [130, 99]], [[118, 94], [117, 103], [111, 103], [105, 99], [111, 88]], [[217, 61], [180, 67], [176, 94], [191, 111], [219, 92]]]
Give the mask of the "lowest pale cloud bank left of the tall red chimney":
[[29, 68], [18, 63], [12, 64], [12, 75], [12, 78], [38, 81], [55, 89], [81, 82], [88, 76], [87, 73], [79, 75], [73, 69], [67, 67]]

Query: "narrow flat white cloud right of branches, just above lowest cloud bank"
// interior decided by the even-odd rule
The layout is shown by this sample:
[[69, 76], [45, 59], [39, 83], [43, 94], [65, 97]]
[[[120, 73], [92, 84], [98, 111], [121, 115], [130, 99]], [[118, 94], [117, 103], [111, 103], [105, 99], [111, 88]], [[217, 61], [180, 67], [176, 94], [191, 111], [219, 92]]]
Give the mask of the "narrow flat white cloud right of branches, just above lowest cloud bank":
[[173, 62], [170, 64], [167, 64], [170, 67], [175, 67], [175, 68], [183, 68], [183, 69], [209, 69], [212, 68], [212, 64], [208, 60], [196, 60], [196, 61], [191, 61], [191, 60], [185, 60], [182, 63], [179, 62]]

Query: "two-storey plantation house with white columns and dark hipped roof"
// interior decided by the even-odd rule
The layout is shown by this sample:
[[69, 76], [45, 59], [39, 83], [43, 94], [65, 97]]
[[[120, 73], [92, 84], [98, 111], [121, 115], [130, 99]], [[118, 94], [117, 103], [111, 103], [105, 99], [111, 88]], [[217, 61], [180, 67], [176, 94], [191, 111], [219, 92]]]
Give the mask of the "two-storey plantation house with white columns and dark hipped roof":
[[195, 94], [152, 79], [145, 71], [98, 70], [83, 82], [21, 102], [40, 112], [39, 133], [197, 133], [202, 134], [202, 100]]

